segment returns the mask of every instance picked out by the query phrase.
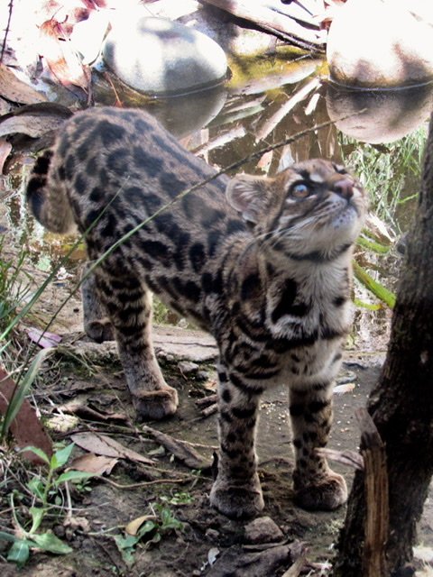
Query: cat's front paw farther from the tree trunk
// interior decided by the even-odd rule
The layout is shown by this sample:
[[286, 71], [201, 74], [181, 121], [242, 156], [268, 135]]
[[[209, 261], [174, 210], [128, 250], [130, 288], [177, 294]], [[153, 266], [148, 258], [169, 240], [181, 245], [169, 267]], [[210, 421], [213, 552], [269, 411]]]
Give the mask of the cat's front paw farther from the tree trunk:
[[244, 485], [217, 479], [210, 491], [210, 504], [232, 519], [256, 517], [264, 507], [258, 476]]

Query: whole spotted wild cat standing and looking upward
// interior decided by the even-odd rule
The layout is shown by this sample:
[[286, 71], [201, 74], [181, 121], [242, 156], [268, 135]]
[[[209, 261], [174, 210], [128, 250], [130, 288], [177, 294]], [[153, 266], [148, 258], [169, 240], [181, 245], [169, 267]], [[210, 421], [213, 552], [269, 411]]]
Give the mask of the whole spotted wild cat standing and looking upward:
[[315, 452], [327, 444], [333, 380], [351, 322], [351, 255], [363, 224], [363, 188], [327, 160], [274, 179], [218, 176], [147, 220], [215, 170], [152, 116], [100, 108], [73, 116], [35, 164], [27, 195], [51, 231], [87, 231], [89, 261], [109, 252], [83, 289], [85, 326], [114, 329], [134, 406], [174, 413], [151, 337], [151, 291], [217, 340], [220, 451], [212, 504], [230, 517], [263, 508], [254, 430], [264, 389], [285, 383], [296, 501], [332, 509], [343, 477]]

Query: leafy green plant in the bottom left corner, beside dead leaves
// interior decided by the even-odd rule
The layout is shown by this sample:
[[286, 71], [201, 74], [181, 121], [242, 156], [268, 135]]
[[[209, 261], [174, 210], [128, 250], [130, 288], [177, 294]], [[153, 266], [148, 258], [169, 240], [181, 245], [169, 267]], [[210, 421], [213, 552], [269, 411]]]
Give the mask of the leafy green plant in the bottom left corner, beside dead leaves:
[[12, 546], [7, 554], [7, 560], [18, 565], [27, 562], [31, 549], [40, 549], [52, 554], [68, 554], [72, 552], [69, 545], [63, 543], [59, 537], [51, 531], [40, 532], [43, 518], [47, 515], [51, 506], [49, 499], [55, 499], [59, 493], [60, 486], [68, 481], [82, 482], [94, 476], [94, 473], [81, 471], [60, 472], [69, 460], [74, 444], [69, 444], [56, 451], [50, 458], [46, 453], [37, 447], [28, 446], [23, 451], [32, 451], [37, 454], [42, 461], [48, 465], [46, 477], [35, 476], [27, 483], [27, 489], [31, 491], [38, 507], [29, 508], [31, 516], [30, 527], [25, 528], [18, 520], [16, 508], [14, 506], [14, 493], [11, 493], [10, 502], [14, 516], [14, 535], [0, 531], [0, 539], [12, 542]]

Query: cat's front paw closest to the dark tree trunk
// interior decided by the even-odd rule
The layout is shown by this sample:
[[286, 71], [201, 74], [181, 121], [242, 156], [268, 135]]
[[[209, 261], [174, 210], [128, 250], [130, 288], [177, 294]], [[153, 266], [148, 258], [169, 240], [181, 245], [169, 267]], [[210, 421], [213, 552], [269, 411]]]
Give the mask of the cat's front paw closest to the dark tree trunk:
[[297, 487], [295, 484], [295, 503], [310, 511], [332, 511], [344, 505], [346, 500], [345, 479], [336, 472], [330, 472], [326, 477], [309, 485]]

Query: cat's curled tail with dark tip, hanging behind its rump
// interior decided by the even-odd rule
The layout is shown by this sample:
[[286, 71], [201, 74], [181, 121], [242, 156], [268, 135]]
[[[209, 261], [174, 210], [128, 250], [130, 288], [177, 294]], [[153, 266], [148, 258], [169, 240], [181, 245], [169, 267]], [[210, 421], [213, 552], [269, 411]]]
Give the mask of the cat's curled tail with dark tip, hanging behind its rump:
[[52, 154], [52, 151], [45, 151], [36, 160], [27, 184], [27, 202], [36, 219], [49, 231], [72, 233], [76, 225], [65, 187], [59, 179], [55, 186], [51, 181]]

